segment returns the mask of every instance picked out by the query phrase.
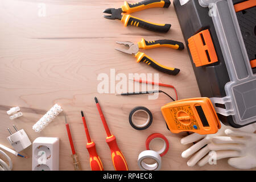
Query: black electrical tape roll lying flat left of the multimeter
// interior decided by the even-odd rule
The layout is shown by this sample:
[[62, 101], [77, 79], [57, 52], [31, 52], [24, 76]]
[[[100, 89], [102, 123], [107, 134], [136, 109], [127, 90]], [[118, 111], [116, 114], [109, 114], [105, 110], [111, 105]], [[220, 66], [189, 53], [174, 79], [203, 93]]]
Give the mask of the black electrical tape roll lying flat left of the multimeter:
[[[146, 123], [144, 123], [143, 125], [137, 125], [136, 123], [133, 122], [133, 116], [135, 113], [137, 113], [138, 111], [144, 111], [145, 113], [147, 113], [147, 121]], [[130, 122], [130, 125], [136, 129], [136, 130], [145, 130], [147, 129], [148, 127], [150, 127], [150, 125], [152, 124], [152, 121], [153, 121], [153, 116], [152, 116], [152, 113], [150, 110], [148, 110], [146, 107], [143, 107], [143, 106], [138, 106], [138, 107], [134, 107], [130, 114], [129, 114], [129, 122]]]

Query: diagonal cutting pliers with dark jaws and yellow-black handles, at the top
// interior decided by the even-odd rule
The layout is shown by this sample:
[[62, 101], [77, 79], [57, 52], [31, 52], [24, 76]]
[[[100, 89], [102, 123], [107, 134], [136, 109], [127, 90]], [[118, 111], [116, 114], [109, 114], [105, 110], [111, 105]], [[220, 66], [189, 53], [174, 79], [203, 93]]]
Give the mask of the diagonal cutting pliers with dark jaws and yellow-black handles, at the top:
[[[134, 4], [129, 4], [125, 1], [125, 4], [119, 9], [109, 8], [103, 11], [103, 13], [108, 13], [111, 15], [104, 15], [104, 18], [107, 19], [119, 19], [125, 24], [125, 27], [128, 25], [145, 28], [147, 30], [155, 32], [167, 32], [171, 28], [171, 24], [157, 24], [150, 23], [143, 19], [136, 18], [129, 15], [136, 11], [141, 11], [149, 9], [151, 7], [169, 7], [171, 5], [170, 0], [146, 0]], [[124, 13], [122, 15], [122, 13]]]

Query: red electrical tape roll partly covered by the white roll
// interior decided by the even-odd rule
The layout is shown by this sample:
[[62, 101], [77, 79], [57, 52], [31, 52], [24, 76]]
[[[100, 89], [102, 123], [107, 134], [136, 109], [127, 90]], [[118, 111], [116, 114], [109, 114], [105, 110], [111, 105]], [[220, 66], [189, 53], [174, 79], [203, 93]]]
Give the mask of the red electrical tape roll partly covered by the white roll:
[[156, 151], [162, 157], [162, 156], [166, 155], [166, 153], [169, 150], [169, 142], [168, 142], [167, 138], [164, 137], [164, 135], [162, 135], [160, 133], [153, 133], [153, 134], [149, 135], [147, 140], [146, 140], [146, 148], [147, 148], [147, 150], [151, 150], [149, 148], [149, 144], [150, 144], [151, 140], [155, 139], [155, 138], [160, 138], [160, 139], [164, 140], [163, 148], [161, 150], [159, 150], [159, 151]]

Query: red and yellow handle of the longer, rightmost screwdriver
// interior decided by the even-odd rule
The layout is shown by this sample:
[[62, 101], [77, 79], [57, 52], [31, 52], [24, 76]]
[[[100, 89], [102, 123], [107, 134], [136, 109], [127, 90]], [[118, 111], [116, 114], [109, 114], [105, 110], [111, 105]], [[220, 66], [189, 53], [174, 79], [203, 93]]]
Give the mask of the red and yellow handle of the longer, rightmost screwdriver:
[[129, 169], [125, 160], [125, 156], [123, 156], [121, 150], [117, 146], [115, 136], [112, 135], [111, 137], [107, 137], [106, 143], [108, 143], [111, 151], [111, 157], [115, 171], [128, 171]]

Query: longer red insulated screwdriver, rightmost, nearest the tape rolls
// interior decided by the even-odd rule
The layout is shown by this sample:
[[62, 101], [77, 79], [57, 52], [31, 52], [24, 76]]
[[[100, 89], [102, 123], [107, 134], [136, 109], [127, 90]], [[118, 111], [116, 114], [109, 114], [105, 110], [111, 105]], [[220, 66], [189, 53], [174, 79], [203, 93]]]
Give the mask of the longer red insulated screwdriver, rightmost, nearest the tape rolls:
[[105, 117], [102, 113], [101, 106], [98, 103], [97, 97], [94, 97], [94, 100], [96, 102], [98, 112], [100, 113], [101, 121], [104, 125], [105, 131], [107, 134], [106, 143], [108, 143], [111, 151], [111, 157], [112, 157], [112, 162], [113, 162], [115, 171], [128, 171], [129, 169], [127, 166], [127, 162], [125, 160], [125, 156], [123, 156], [121, 150], [119, 149], [115, 136], [112, 135], [109, 131], [108, 124], [106, 123]]

